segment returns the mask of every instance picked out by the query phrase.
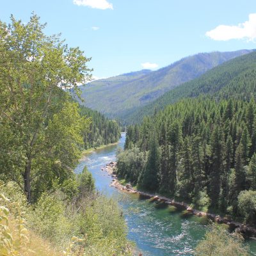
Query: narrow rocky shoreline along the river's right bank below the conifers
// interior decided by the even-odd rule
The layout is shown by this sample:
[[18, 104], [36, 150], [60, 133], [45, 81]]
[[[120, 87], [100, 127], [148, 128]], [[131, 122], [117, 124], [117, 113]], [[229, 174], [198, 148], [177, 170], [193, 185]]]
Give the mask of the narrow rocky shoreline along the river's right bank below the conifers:
[[188, 212], [191, 212], [191, 214], [194, 214], [196, 216], [206, 216], [212, 221], [215, 221], [216, 223], [225, 223], [227, 224], [232, 230], [237, 230], [248, 237], [256, 237], [256, 228], [250, 227], [248, 225], [245, 225], [243, 223], [239, 223], [237, 221], [231, 220], [231, 218], [228, 217], [221, 217], [218, 214], [213, 214], [209, 212], [203, 212], [198, 211], [196, 209], [192, 209], [188, 204], [184, 202], [176, 202], [173, 199], [166, 198], [164, 196], [154, 195], [150, 193], [145, 193], [143, 191], [138, 191], [134, 188], [132, 188], [131, 184], [127, 183], [124, 185], [120, 184], [120, 182], [117, 179], [116, 176], [116, 162], [113, 161], [109, 164], [106, 164], [104, 168], [102, 168], [102, 171], [108, 172], [108, 175], [111, 175], [113, 178], [110, 186], [115, 187], [116, 189], [120, 189], [121, 191], [127, 192], [127, 193], [136, 193], [140, 196], [143, 196], [144, 198], [150, 199], [152, 202], [156, 201], [159, 203], [164, 203], [168, 205], [173, 205], [179, 209], [187, 210]]

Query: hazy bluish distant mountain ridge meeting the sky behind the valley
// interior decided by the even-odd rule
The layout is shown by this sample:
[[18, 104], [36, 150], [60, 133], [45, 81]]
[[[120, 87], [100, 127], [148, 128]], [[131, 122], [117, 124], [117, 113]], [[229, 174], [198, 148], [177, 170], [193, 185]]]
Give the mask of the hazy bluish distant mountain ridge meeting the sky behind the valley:
[[124, 119], [136, 108], [156, 100], [165, 92], [249, 52], [251, 50], [199, 53], [156, 71], [141, 70], [93, 81], [81, 86], [81, 96], [85, 106]]

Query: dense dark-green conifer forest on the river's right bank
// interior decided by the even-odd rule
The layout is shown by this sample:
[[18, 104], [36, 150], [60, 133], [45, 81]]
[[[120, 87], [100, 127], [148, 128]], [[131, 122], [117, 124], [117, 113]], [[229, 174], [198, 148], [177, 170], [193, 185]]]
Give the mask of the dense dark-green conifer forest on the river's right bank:
[[255, 111], [253, 99], [180, 100], [127, 129], [118, 174], [147, 191], [255, 225]]

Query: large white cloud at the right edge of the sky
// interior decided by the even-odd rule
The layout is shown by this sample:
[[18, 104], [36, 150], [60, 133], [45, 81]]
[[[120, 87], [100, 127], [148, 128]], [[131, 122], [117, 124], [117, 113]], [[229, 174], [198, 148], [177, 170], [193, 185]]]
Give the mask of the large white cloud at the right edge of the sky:
[[256, 13], [250, 14], [249, 20], [244, 23], [240, 23], [237, 26], [220, 25], [211, 31], [207, 31], [205, 35], [218, 41], [230, 39], [254, 41], [256, 38]]

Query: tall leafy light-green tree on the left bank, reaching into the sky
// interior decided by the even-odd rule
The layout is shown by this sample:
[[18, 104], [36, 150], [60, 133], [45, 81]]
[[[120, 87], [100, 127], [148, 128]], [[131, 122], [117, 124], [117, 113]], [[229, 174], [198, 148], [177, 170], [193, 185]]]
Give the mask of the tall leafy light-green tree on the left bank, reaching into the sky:
[[61, 90], [73, 86], [78, 93], [90, 59], [44, 29], [35, 14], [28, 23], [13, 16], [9, 25], [0, 22], [0, 173], [24, 186], [29, 202], [72, 175], [90, 123]]

